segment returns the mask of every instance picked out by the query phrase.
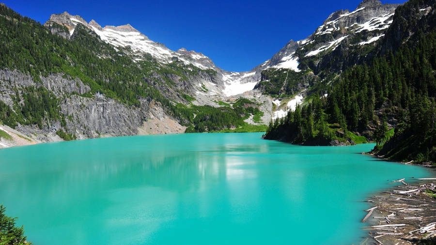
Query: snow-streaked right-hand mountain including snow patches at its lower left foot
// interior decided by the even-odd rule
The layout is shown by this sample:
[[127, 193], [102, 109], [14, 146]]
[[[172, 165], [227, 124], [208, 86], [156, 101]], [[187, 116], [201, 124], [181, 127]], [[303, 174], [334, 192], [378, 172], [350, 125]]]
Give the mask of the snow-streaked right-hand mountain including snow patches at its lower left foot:
[[[350, 12], [339, 10], [304, 40], [291, 40], [265, 62], [255, 89], [276, 97], [274, 119], [282, 118], [325, 80], [334, 80], [348, 67], [370, 60], [385, 35], [399, 4], [364, 0]], [[328, 86], [317, 89], [320, 96]], [[298, 96], [295, 97], [295, 96]], [[303, 97], [303, 98], [301, 98]]]

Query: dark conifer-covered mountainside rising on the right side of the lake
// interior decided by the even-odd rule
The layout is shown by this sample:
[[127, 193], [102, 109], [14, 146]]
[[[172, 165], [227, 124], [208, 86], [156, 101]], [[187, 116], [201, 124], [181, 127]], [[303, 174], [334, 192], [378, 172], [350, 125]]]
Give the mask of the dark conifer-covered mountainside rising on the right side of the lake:
[[[364, 1], [353, 12], [369, 7], [379, 10], [380, 6], [383, 5], [378, 1]], [[362, 28], [373, 30], [373, 23], [390, 24], [387, 28], [377, 24], [375, 35], [380, 37], [368, 52], [356, 56], [355, 64], [346, 67], [334, 79], [328, 79], [328, 86], [317, 86], [318, 83], [308, 88], [305, 104], [270, 123], [265, 138], [306, 145], [353, 144], [370, 139], [377, 143], [374, 153], [383, 157], [417, 163], [436, 161], [435, 1], [409, 0], [398, 6], [394, 14], [383, 16], [382, 20], [377, 17], [378, 22], [355, 28], [355, 33], [359, 33]], [[343, 21], [342, 17], [338, 21], [334, 15], [327, 20], [324, 25], [354, 21]], [[322, 30], [324, 27], [317, 31]], [[371, 33], [365, 38], [374, 36]], [[338, 46], [339, 50], [344, 44], [350, 46], [344, 42], [345, 39]], [[366, 46], [367, 42], [358, 45]], [[321, 55], [327, 54], [318, 57], [318, 61], [322, 62], [328, 52], [334, 54], [337, 50], [321, 51]], [[307, 57], [313, 50], [304, 52]], [[346, 60], [337, 59], [335, 63]], [[335, 71], [335, 66], [331, 70]], [[314, 73], [322, 76], [316, 70]]]

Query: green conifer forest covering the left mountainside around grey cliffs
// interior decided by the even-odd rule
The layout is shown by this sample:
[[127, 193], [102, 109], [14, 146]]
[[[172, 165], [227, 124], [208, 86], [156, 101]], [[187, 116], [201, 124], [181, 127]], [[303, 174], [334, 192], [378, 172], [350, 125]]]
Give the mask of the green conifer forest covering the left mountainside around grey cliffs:
[[[187, 132], [238, 127], [250, 112], [258, 113], [241, 106], [184, 106], [159, 91], [162, 86], [174, 86], [167, 76], [174, 74], [187, 80], [200, 72], [214, 75], [215, 71], [201, 70], [176, 60], [163, 65], [151, 56], [143, 61], [133, 61], [122, 50], [115, 50], [81, 24], [76, 27], [72, 39], [66, 40], [4, 5], [0, 5], [0, 68], [16, 69], [34, 81], [41, 81], [41, 77], [50, 74], [79, 78], [91, 88], [90, 92], [80, 96], [92, 97], [98, 92], [131, 107], [141, 107], [141, 98], [156, 100], [171, 117], [188, 126]], [[60, 121], [64, 125], [66, 115], [59, 107], [60, 98], [52, 92], [43, 86], [16, 87], [15, 91], [12, 108], [0, 101], [0, 122], [13, 128], [18, 123], [43, 128], [50, 121]], [[190, 95], [181, 94], [180, 100], [192, 101]], [[66, 131], [59, 130], [58, 135], [64, 139], [75, 138]]]

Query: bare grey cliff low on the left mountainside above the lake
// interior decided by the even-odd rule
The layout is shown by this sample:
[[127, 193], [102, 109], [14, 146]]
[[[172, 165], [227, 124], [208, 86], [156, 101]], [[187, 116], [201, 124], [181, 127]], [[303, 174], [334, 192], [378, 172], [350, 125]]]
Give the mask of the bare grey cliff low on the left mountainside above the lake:
[[[91, 98], [82, 96], [90, 92], [91, 89], [77, 78], [50, 75], [41, 77], [41, 82], [35, 82], [31, 77], [21, 72], [0, 70], [0, 91], [2, 91], [0, 100], [10, 107], [14, 105], [11, 95], [15, 95], [16, 89], [21, 92], [21, 88], [39, 86], [53, 92], [60, 100], [61, 113], [66, 118], [65, 129], [69, 133], [74, 133], [78, 138], [137, 135], [140, 133], [138, 129], [143, 126], [143, 123], [152, 117], [157, 117], [157, 121], [171, 119], [168, 116], [162, 118], [163, 110], [160, 104], [156, 105], [154, 101], [140, 99], [140, 107], [128, 107], [103, 94], [97, 93]], [[155, 110], [149, 109], [150, 103], [155, 105]], [[155, 116], [155, 111], [160, 112]], [[183, 128], [178, 122], [172, 121], [174, 127]], [[163, 124], [165, 122], [162, 122]], [[56, 131], [59, 129], [62, 129], [60, 122], [49, 122], [42, 129], [26, 125], [16, 127], [17, 131], [37, 142], [61, 140], [56, 136]], [[151, 133], [155, 131], [156, 129], [153, 129]], [[171, 132], [181, 132], [181, 130], [170, 129], [168, 133]]]

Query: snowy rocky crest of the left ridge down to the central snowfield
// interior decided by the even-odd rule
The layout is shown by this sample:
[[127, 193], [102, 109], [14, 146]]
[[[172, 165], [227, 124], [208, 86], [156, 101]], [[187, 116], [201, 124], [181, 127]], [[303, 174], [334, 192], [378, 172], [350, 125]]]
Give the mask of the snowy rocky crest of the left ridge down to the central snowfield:
[[[95, 20], [87, 23], [82, 17], [70, 15], [67, 12], [51, 15], [50, 19], [45, 23], [45, 26], [52, 33], [57, 33], [67, 39], [74, 39], [74, 31], [78, 25], [83, 25], [95, 32], [106, 43], [116, 48], [123, 48], [125, 53], [134, 57], [137, 61], [146, 60], [151, 55], [157, 61], [164, 64], [181, 61], [186, 65], [193, 65], [202, 70], [213, 71], [213, 74], [209, 73], [209, 78], [200, 82], [200, 86], [196, 86], [199, 83], [192, 83], [191, 87], [195, 90], [193, 93], [204, 94], [204, 89], [202, 89], [204, 85], [210, 91], [207, 95], [235, 95], [253, 89], [261, 76], [261, 70], [259, 69], [242, 73], [222, 70], [209, 57], [202, 53], [188, 51], [185, 48], [181, 48], [177, 52], [172, 51], [165, 45], [150, 40], [130, 24], [105, 26], [102, 28]], [[68, 33], [63, 31], [61, 27], [65, 27]], [[210, 81], [212, 81], [212, 84], [209, 84]]]

